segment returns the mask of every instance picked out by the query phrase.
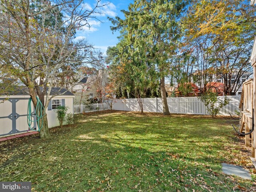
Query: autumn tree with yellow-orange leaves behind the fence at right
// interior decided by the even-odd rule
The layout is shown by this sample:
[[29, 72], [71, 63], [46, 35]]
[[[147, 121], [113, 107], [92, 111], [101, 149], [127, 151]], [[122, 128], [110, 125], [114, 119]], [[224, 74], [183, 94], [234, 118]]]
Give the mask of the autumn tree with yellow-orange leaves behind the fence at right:
[[255, 13], [249, 1], [192, 1], [182, 18], [183, 45], [196, 58], [194, 71], [202, 92], [215, 77], [222, 79], [224, 94], [232, 95], [246, 79], [242, 76], [252, 74]]

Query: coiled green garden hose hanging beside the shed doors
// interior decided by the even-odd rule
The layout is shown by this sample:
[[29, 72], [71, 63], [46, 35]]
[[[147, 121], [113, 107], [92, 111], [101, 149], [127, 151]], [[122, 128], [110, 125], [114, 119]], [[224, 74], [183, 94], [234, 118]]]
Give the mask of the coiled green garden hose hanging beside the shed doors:
[[[28, 100], [28, 118], [27, 118], [27, 121], [28, 121], [28, 131], [29, 130], [33, 130], [33, 131], [39, 131], [41, 130], [41, 128], [43, 127], [44, 125], [44, 120], [43, 120], [43, 117], [45, 115], [45, 110], [44, 110], [44, 106], [42, 104], [42, 102], [40, 101], [40, 99], [38, 98], [38, 96], [36, 96], [36, 109], [35, 109], [35, 114], [32, 114], [31, 113], [31, 102], [32, 102], [32, 98], [30, 97], [29, 100]], [[43, 113], [44, 111], [44, 113]], [[32, 120], [33, 116], [32, 115], [36, 115], [36, 120]], [[39, 124], [39, 121], [40, 119], [42, 119], [42, 124], [40, 126]], [[36, 122], [37, 126], [38, 126], [38, 130], [36, 130], [36, 128], [32, 128], [31, 125], [32, 125], [32, 122]]]

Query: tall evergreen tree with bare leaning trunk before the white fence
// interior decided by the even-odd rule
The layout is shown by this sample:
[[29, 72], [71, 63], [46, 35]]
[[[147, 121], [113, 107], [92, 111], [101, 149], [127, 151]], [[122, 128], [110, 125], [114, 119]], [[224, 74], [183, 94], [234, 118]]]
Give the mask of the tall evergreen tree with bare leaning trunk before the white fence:
[[122, 11], [124, 20], [110, 19], [115, 25], [112, 30], [121, 29], [128, 46], [128, 57], [143, 60], [148, 67], [154, 68], [153, 76], [160, 80], [164, 115], [170, 114], [165, 77], [169, 72], [169, 59], [180, 38], [178, 19], [184, 6], [183, 0], [135, 0], [128, 11]]

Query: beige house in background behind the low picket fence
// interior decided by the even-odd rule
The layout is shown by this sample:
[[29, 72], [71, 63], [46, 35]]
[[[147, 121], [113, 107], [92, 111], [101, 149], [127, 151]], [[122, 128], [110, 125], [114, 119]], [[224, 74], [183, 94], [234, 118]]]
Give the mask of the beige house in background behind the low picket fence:
[[75, 95], [74, 104], [83, 104], [91, 98], [99, 100], [100, 91], [104, 90], [107, 78], [105, 69], [100, 69], [88, 77], [81, 76], [80, 80], [70, 90]]

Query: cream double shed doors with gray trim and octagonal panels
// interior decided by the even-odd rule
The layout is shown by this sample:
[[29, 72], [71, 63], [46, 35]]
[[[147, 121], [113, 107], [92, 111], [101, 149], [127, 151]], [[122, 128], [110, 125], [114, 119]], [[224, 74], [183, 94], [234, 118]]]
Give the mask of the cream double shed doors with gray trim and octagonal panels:
[[[27, 107], [27, 98], [10, 98], [0, 103], [0, 137], [27, 132]], [[34, 128], [36, 128], [35, 122]]]

